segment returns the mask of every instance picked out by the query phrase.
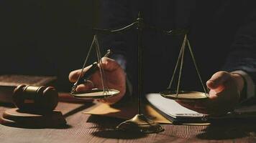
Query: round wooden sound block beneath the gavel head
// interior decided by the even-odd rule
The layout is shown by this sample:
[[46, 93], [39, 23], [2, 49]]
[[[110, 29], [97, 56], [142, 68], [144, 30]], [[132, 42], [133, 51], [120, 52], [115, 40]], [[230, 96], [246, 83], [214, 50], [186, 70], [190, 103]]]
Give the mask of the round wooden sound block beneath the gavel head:
[[24, 128], [55, 128], [65, 126], [65, 118], [59, 111], [24, 112], [18, 108], [7, 109], [1, 117], [1, 124]]

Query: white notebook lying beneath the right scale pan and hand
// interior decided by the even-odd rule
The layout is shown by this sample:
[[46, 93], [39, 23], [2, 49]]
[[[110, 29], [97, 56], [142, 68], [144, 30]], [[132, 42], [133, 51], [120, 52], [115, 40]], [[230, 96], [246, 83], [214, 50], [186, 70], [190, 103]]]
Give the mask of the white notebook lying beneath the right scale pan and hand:
[[[229, 112], [221, 117], [210, 117], [207, 114], [201, 114], [191, 109], [181, 106], [173, 99], [166, 99], [160, 94], [147, 94], [146, 99], [152, 107], [157, 109], [163, 116], [170, 119], [172, 122], [206, 122], [206, 120], [213, 121], [214, 119], [256, 119], [256, 104], [247, 104], [246, 106], [239, 106], [233, 112]], [[251, 102], [256, 103], [255, 99], [250, 99]], [[250, 102], [249, 101], [249, 102]]]

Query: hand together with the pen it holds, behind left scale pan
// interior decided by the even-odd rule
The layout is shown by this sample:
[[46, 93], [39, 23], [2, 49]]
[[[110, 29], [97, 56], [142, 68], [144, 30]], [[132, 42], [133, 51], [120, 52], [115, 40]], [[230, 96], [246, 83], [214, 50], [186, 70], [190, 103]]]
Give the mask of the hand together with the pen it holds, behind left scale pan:
[[[114, 97], [100, 99], [99, 102], [114, 104], [115, 102], [118, 102], [119, 99], [122, 99], [124, 93], [126, 92], [126, 74], [122, 67], [114, 59], [109, 59], [106, 56], [109, 55], [106, 54], [105, 57], [101, 59], [101, 67], [102, 69], [104, 69], [104, 74], [106, 78], [105, 84], [107, 85], [107, 87], [109, 87], [109, 89], [116, 89], [120, 93]], [[99, 64], [95, 63], [94, 66], [91, 65], [85, 67], [84, 71], [83, 69], [82, 71], [81, 69], [77, 69], [70, 72], [69, 80], [70, 82], [75, 83], [73, 86], [74, 92], [84, 92], [94, 88], [102, 89], [101, 76], [98, 66]], [[83, 76], [80, 76], [81, 72], [83, 72]], [[91, 82], [84, 82], [86, 81], [85, 79], [87, 81], [89, 79]]]

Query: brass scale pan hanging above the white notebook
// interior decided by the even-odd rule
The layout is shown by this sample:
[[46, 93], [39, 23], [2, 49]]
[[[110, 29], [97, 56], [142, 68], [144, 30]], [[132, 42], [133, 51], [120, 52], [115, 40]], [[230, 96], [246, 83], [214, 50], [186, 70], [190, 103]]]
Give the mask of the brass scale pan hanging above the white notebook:
[[178, 96], [176, 91], [164, 91], [160, 92], [162, 97], [168, 99], [175, 99], [175, 100], [200, 100], [206, 99], [209, 97], [209, 94], [205, 94], [204, 92], [194, 92], [194, 91], [180, 91]]

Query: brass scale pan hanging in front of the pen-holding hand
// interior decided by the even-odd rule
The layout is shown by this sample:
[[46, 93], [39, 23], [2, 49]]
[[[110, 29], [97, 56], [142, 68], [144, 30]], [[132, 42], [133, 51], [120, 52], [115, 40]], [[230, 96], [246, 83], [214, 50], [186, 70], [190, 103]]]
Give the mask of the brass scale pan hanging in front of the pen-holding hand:
[[104, 99], [107, 97], [113, 97], [115, 95], [119, 94], [119, 91], [116, 89], [91, 89], [84, 92], [73, 92], [71, 95], [73, 97], [79, 98], [79, 99]]

